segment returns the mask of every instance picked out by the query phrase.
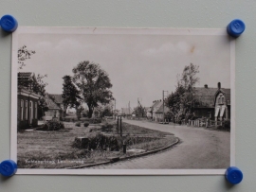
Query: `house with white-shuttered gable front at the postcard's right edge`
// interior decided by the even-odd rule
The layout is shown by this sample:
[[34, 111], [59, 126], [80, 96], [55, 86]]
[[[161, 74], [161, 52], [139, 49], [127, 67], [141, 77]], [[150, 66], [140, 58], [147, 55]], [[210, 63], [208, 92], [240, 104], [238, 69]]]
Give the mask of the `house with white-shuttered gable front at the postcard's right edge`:
[[218, 82], [217, 88], [204, 87], [195, 88], [196, 102], [192, 104], [195, 116], [208, 117], [211, 120], [223, 120], [230, 118], [230, 89], [221, 88]]

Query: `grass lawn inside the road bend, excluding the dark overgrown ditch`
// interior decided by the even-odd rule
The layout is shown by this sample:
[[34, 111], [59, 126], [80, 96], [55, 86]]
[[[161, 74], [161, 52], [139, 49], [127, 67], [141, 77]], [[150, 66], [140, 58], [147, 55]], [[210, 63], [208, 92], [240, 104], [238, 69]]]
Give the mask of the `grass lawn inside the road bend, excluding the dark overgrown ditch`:
[[[109, 120], [110, 124], [116, 124]], [[88, 150], [74, 148], [75, 137], [94, 137], [103, 132], [102, 124], [87, 128], [76, 127], [75, 123], [65, 122], [60, 131], [18, 131], [18, 167], [19, 168], [64, 168], [108, 161], [113, 156], [130, 156], [134, 152], [123, 154], [122, 151]], [[174, 135], [168, 132], [153, 131], [134, 125], [122, 123], [123, 138], [129, 135], [145, 137], [143, 142], [130, 142], [127, 149], [137, 148], [153, 150], [163, 148], [174, 142]], [[116, 128], [107, 130], [107, 134], [116, 133]], [[169, 135], [164, 137], [165, 135]], [[147, 137], [152, 137], [148, 139]], [[140, 139], [141, 140], [141, 139]]]

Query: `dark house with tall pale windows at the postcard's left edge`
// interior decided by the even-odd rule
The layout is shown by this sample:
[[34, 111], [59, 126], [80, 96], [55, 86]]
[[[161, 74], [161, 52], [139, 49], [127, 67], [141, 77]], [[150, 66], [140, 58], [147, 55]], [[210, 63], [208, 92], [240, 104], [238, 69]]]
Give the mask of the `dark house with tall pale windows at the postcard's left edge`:
[[37, 83], [35, 74], [20, 72], [17, 88], [17, 126], [18, 129], [27, 129], [38, 125], [38, 100], [40, 95], [33, 91]]

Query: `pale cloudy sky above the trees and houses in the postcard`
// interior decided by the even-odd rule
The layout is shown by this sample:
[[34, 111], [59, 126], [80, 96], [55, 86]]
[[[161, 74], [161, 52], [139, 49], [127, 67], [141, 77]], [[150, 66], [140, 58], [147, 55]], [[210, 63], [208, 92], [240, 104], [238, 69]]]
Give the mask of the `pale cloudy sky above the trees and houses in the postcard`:
[[[150, 34], [19, 34], [18, 46], [36, 53], [20, 72], [47, 75], [46, 92], [62, 94], [63, 77], [80, 61], [99, 63], [113, 87], [117, 109], [150, 107], [162, 91], [174, 92], [177, 74], [199, 66], [197, 87], [230, 88], [230, 44], [226, 36]], [[18, 68], [18, 64], [17, 64]], [[167, 93], [166, 93], [167, 94]]]

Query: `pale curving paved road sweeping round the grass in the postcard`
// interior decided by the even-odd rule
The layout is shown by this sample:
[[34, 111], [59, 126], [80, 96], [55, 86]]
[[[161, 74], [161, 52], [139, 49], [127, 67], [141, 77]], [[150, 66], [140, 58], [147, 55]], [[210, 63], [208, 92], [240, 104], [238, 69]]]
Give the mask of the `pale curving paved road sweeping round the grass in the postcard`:
[[230, 158], [230, 133], [209, 131], [203, 128], [160, 125], [144, 121], [123, 120], [144, 128], [168, 131], [180, 139], [174, 148], [144, 157], [120, 161], [115, 164], [94, 166], [93, 169], [143, 169], [143, 168], [227, 168]]

